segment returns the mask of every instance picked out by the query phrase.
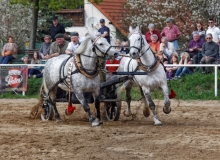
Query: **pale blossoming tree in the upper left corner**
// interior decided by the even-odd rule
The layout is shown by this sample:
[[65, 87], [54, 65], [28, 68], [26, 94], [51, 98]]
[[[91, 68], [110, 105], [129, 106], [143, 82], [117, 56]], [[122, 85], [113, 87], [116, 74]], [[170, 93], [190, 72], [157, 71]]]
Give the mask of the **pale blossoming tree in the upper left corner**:
[[19, 47], [28, 41], [32, 24], [31, 7], [21, 4], [9, 4], [9, 1], [0, 1], [0, 48], [6, 43], [7, 37], [13, 36]]

